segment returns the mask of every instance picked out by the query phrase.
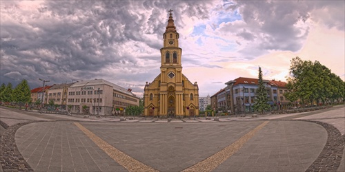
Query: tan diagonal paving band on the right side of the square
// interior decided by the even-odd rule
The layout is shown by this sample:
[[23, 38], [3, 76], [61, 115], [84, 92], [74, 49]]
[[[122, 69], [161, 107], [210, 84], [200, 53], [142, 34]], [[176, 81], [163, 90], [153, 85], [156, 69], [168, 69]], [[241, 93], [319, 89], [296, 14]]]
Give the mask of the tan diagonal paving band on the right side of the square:
[[241, 147], [250, 139], [252, 138], [257, 131], [262, 129], [265, 125], [267, 125], [268, 121], [263, 122], [261, 125], [257, 126], [252, 131], [246, 133], [246, 135], [236, 140], [233, 144], [230, 144], [228, 147], [222, 149], [221, 151], [211, 155], [210, 157], [206, 158], [205, 160], [190, 166], [188, 169], [185, 169], [184, 172], [194, 172], [194, 171], [213, 171], [213, 169], [217, 168], [221, 163], [227, 160], [231, 155], [233, 155], [236, 151], [241, 149]]

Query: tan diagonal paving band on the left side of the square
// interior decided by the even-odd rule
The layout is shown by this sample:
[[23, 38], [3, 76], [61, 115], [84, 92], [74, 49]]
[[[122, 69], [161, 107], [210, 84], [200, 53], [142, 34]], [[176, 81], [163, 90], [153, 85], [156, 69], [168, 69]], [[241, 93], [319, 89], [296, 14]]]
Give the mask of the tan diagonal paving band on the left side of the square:
[[114, 159], [121, 166], [124, 166], [124, 168], [128, 171], [157, 171], [156, 169], [153, 169], [152, 167], [135, 160], [126, 153], [119, 151], [119, 149], [112, 147], [112, 145], [108, 144], [108, 142], [102, 140], [94, 133], [83, 127], [81, 124], [79, 124], [79, 122], [74, 123], [86, 134], [86, 136], [95, 142], [99, 148], [106, 152], [110, 158]]

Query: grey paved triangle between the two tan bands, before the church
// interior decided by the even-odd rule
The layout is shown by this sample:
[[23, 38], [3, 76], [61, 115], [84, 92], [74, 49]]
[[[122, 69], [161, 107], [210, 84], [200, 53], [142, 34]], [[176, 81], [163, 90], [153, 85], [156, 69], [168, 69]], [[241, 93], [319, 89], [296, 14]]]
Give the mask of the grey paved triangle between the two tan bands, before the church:
[[182, 171], [228, 147], [262, 122], [80, 124], [154, 169]]

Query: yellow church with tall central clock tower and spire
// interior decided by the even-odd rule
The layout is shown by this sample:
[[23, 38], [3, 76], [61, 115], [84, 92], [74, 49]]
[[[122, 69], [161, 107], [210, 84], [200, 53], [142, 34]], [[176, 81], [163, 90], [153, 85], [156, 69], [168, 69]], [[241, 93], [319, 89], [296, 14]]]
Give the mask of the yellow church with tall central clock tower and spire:
[[144, 88], [145, 116], [199, 116], [199, 87], [182, 74], [179, 33], [176, 31], [172, 10], [163, 34], [161, 74]]

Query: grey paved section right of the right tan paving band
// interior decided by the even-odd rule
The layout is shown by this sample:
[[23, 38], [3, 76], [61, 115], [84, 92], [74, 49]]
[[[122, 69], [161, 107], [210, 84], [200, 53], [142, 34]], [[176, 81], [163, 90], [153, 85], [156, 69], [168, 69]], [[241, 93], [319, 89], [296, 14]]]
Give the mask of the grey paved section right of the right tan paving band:
[[326, 144], [320, 125], [270, 121], [214, 171], [305, 171]]

